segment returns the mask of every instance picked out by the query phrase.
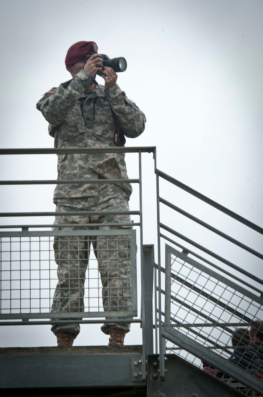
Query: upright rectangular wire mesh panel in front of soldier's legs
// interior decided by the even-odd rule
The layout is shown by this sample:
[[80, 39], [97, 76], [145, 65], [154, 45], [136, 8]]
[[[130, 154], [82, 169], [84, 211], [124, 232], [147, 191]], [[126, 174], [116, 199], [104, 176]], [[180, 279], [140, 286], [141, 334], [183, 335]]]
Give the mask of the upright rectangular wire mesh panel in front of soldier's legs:
[[137, 316], [135, 233], [0, 233], [0, 320]]

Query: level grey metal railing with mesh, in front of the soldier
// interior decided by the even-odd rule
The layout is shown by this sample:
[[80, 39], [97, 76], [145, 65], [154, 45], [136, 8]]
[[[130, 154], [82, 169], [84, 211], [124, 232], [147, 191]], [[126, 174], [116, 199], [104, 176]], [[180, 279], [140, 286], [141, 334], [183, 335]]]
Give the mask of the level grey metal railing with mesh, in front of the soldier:
[[[145, 358], [145, 283], [144, 283], [144, 267], [143, 267], [143, 218], [142, 218], [142, 181], [141, 181], [141, 153], [153, 153], [155, 157], [155, 147], [139, 147], [139, 148], [44, 148], [44, 149], [2, 149], [0, 150], [0, 155], [48, 155], [48, 154], [89, 154], [89, 153], [134, 153], [138, 155], [138, 178], [133, 179], [97, 179], [97, 180], [9, 180], [9, 181], [0, 181], [0, 185], [57, 185], [57, 184], [114, 184], [114, 183], [131, 183], [139, 185], [139, 197], [138, 204], [139, 208], [135, 211], [82, 211], [82, 216], [106, 216], [106, 215], [130, 215], [130, 216], [139, 216], [139, 222], [132, 222], [131, 224], [122, 224], [124, 227], [130, 227], [130, 229], [126, 228], [124, 230], [114, 230], [110, 229], [108, 231], [98, 231], [94, 229], [99, 229], [97, 224], [87, 224], [82, 222], [82, 224], [73, 224], [69, 222], [69, 224], [63, 223], [63, 231], [40, 231], [42, 228], [50, 228], [50, 227], [60, 227], [61, 224], [50, 224], [49, 222], [38, 222], [38, 224], [33, 222], [29, 222], [29, 219], [39, 219], [39, 217], [43, 217], [44, 220], [48, 219], [50, 216], [58, 216], [65, 215], [59, 214], [58, 212], [50, 212], [50, 211], [41, 211], [41, 212], [2, 212], [0, 216], [2, 218], [16, 218], [19, 219], [23, 217], [23, 219], [27, 220], [27, 223], [23, 221], [23, 223], [19, 224], [11, 224], [12, 222], [8, 222], [8, 224], [2, 224], [0, 229], [20, 229], [20, 231], [1, 231], [0, 239], [1, 239], [1, 288], [2, 288], [2, 304], [0, 309], [0, 325], [10, 325], [10, 324], [45, 324], [45, 323], [56, 323], [59, 324], [63, 322], [85, 322], [85, 323], [109, 323], [112, 322], [116, 316], [118, 316], [118, 322], [127, 322], [125, 317], [128, 317], [129, 322], [139, 322], [142, 324], [143, 330], [143, 357]], [[67, 215], [80, 215], [79, 212], [67, 213]], [[116, 224], [106, 223], [103, 224], [103, 227], [111, 227], [116, 226]], [[131, 227], [137, 226], [139, 227], [140, 234], [139, 240], [137, 241], [137, 246], [140, 247], [140, 262], [141, 262], [141, 316], [139, 318], [133, 318], [137, 316], [137, 285], [136, 285], [136, 231], [131, 230]], [[69, 231], [65, 230], [69, 227]], [[85, 229], [84, 231], [71, 231], [71, 229]], [[32, 230], [33, 229], [33, 230]], [[38, 229], [38, 230], [36, 230]], [[76, 304], [75, 310], [76, 312], [67, 312], [67, 313], [53, 313], [51, 310], [52, 305], [52, 296], [53, 292], [56, 289], [57, 282], [57, 263], [54, 256], [54, 250], [52, 248], [53, 239], [59, 238], [60, 241], [63, 239], [71, 238], [78, 239], [83, 242], [84, 240], [90, 239], [92, 240], [94, 236], [98, 238], [98, 236], [104, 236], [107, 238], [108, 247], [111, 245], [111, 240], [113, 238], [119, 239], [120, 236], [128, 241], [129, 249], [124, 249], [120, 247], [120, 249], [106, 249], [103, 251], [101, 249], [102, 254], [105, 256], [109, 256], [109, 253], [112, 254], [112, 251], [116, 253], [118, 258], [112, 258], [114, 262], [114, 266], [116, 266], [116, 272], [119, 271], [118, 267], [120, 264], [120, 258], [123, 261], [123, 252], [124, 256], [129, 256], [130, 264], [131, 264], [131, 275], [130, 281], [128, 277], [128, 282], [131, 284], [131, 288], [126, 288], [125, 291], [125, 299], [122, 299], [122, 303], [120, 303], [121, 299], [118, 299], [114, 305], [107, 304], [108, 311], [105, 312], [105, 302], [107, 301], [107, 296], [109, 293], [109, 288], [107, 287], [106, 292], [103, 292], [103, 287], [99, 284], [99, 273], [97, 269], [97, 260], [93, 255], [93, 258], [90, 257], [89, 261], [88, 256], [86, 258], [86, 272], [87, 273], [87, 281], [84, 286], [85, 294], [84, 294], [84, 307], [82, 304]], [[71, 237], [69, 237], [71, 236]], [[61, 240], [62, 239], [62, 240]], [[122, 239], [122, 243], [123, 240]], [[92, 241], [91, 241], [92, 243]], [[26, 247], [27, 245], [27, 247]], [[89, 248], [88, 248], [89, 250]], [[65, 250], [64, 250], [65, 251]], [[71, 250], [69, 249], [69, 252]], [[77, 256], [79, 256], [80, 250], [75, 250]], [[82, 249], [83, 251], [83, 249]], [[84, 250], [85, 251], [85, 250]], [[87, 251], [87, 250], [86, 250]], [[97, 249], [99, 252], [99, 250]], [[63, 252], [63, 250], [61, 251]], [[97, 254], [98, 254], [97, 252]], [[89, 255], [89, 253], [88, 253]], [[64, 255], [65, 256], [65, 255]], [[114, 255], [113, 255], [114, 256]], [[80, 263], [80, 258], [77, 258], [78, 264]], [[105, 260], [103, 257], [102, 260]], [[57, 262], [57, 263], [56, 263]], [[79, 265], [78, 265], [79, 266]], [[111, 265], [110, 265], [111, 266]], [[125, 268], [125, 266], [124, 266]], [[123, 270], [123, 266], [122, 266]], [[69, 268], [66, 269], [66, 272], [69, 272]], [[85, 271], [85, 269], [83, 270]], [[116, 278], [118, 280], [118, 276]], [[70, 283], [69, 283], [70, 284]], [[68, 287], [68, 295], [74, 293], [74, 287], [69, 285]], [[101, 297], [101, 294], [103, 295]], [[108, 299], [109, 301], [109, 299]], [[104, 305], [104, 310], [103, 310]], [[114, 306], [114, 310], [112, 309]], [[127, 306], [128, 311], [127, 311]], [[116, 311], [117, 308], [117, 311]], [[125, 309], [125, 310], [123, 310]], [[80, 312], [81, 317], [80, 319]], [[102, 317], [106, 316], [106, 320], [102, 319]], [[54, 320], [54, 318], [56, 320]], [[143, 360], [143, 368], [142, 368], [142, 379], [146, 377], [146, 369], [145, 369], [145, 359]]]

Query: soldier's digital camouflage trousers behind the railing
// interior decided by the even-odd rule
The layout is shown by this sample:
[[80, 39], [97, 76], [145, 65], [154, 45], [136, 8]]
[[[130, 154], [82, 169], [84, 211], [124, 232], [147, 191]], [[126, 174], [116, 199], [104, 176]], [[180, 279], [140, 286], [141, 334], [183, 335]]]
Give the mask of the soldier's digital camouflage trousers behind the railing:
[[[112, 184], [99, 184], [99, 194], [95, 197], [57, 198], [56, 212], [78, 211], [79, 215], [56, 216], [54, 224], [77, 224], [72, 227], [53, 227], [53, 230], [107, 230], [123, 229], [130, 223], [127, 215], [81, 215], [82, 211], [129, 211], [128, 195], [124, 189]], [[103, 226], [105, 223], [116, 224]], [[80, 226], [78, 226], [78, 224]], [[81, 227], [81, 224], [97, 224]], [[130, 229], [130, 227], [128, 227]], [[58, 265], [58, 283], [53, 296], [51, 312], [83, 312], [84, 283], [89, 264], [91, 243], [97, 258], [102, 283], [102, 301], [105, 311], [131, 311], [131, 263], [130, 236], [59, 236], [54, 238], [55, 262]], [[90, 282], [90, 280], [89, 280]], [[116, 317], [116, 316], [114, 316]], [[106, 317], [107, 318], [107, 317]], [[80, 318], [81, 319], [81, 318]], [[130, 324], [103, 324], [101, 330], [109, 334], [111, 326], [128, 332]], [[80, 332], [79, 324], [53, 324], [51, 331], [70, 332], [75, 338]]]

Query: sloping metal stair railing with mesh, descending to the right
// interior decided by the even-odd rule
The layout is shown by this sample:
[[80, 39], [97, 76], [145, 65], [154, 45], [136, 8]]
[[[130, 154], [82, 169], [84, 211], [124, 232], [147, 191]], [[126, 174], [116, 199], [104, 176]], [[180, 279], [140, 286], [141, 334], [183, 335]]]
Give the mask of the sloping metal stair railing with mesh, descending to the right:
[[[215, 378], [221, 376], [221, 380], [243, 393], [248, 389], [263, 393], [263, 378], [259, 375], [259, 368], [255, 366], [255, 357], [251, 357], [253, 351], [257, 352], [257, 355], [263, 353], [262, 344], [260, 346], [259, 343], [255, 344], [246, 339], [247, 357], [241, 361], [240, 357], [233, 360], [236, 351], [231, 341], [233, 335], [237, 335], [237, 328], [249, 330], [254, 327], [261, 331], [263, 280], [179, 233], [167, 222], [162, 222], [160, 204], [215, 235], [223, 237], [233, 246], [249, 252], [260, 260], [263, 259], [263, 254], [160, 197], [160, 179], [179, 187], [259, 234], [263, 234], [263, 229], [161, 172], [156, 166], [155, 173], [158, 264], [160, 265], [155, 265], [155, 269], [158, 269], [155, 291], [158, 294], [156, 326], [159, 327], [160, 375], [165, 374], [165, 353], [173, 352], [200, 368], [202, 368], [201, 359], [209, 363], [207, 364], [209, 371]], [[165, 241], [171, 243], [173, 247], [166, 243], [164, 248]], [[215, 263], [212, 262], [213, 260]], [[162, 274], [165, 274], [165, 280]], [[172, 342], [172, 345], [166, 346], [165, 341]]]

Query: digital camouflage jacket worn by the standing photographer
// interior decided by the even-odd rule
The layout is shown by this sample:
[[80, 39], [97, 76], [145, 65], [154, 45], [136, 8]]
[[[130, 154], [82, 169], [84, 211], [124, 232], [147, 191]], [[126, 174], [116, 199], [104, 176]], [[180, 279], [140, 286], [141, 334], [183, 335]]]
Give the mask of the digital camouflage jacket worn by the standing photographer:
[[[52, 88], [36, 104], [50, 123], [49, 134], [55, 148], [116, 147], [113, 143], [114, 121], [109, 103], [98, 87], [84, 94], [92, 77], [81, 70], [76, 76]], [[100, 85], [103, 91], [104, 87]], [[116, 114], [124, 135], [139, 136], [145, 128], [145, 115], [124, 91], [115, 85], [104, 91]], [[124, 153], [59, 154], [57, 179], [127, 179]], [[131, 195], [131, 185], [121, 185]], [[87, 197], [97, 195], [97, 184], [57, 185], [54, 198]]]

